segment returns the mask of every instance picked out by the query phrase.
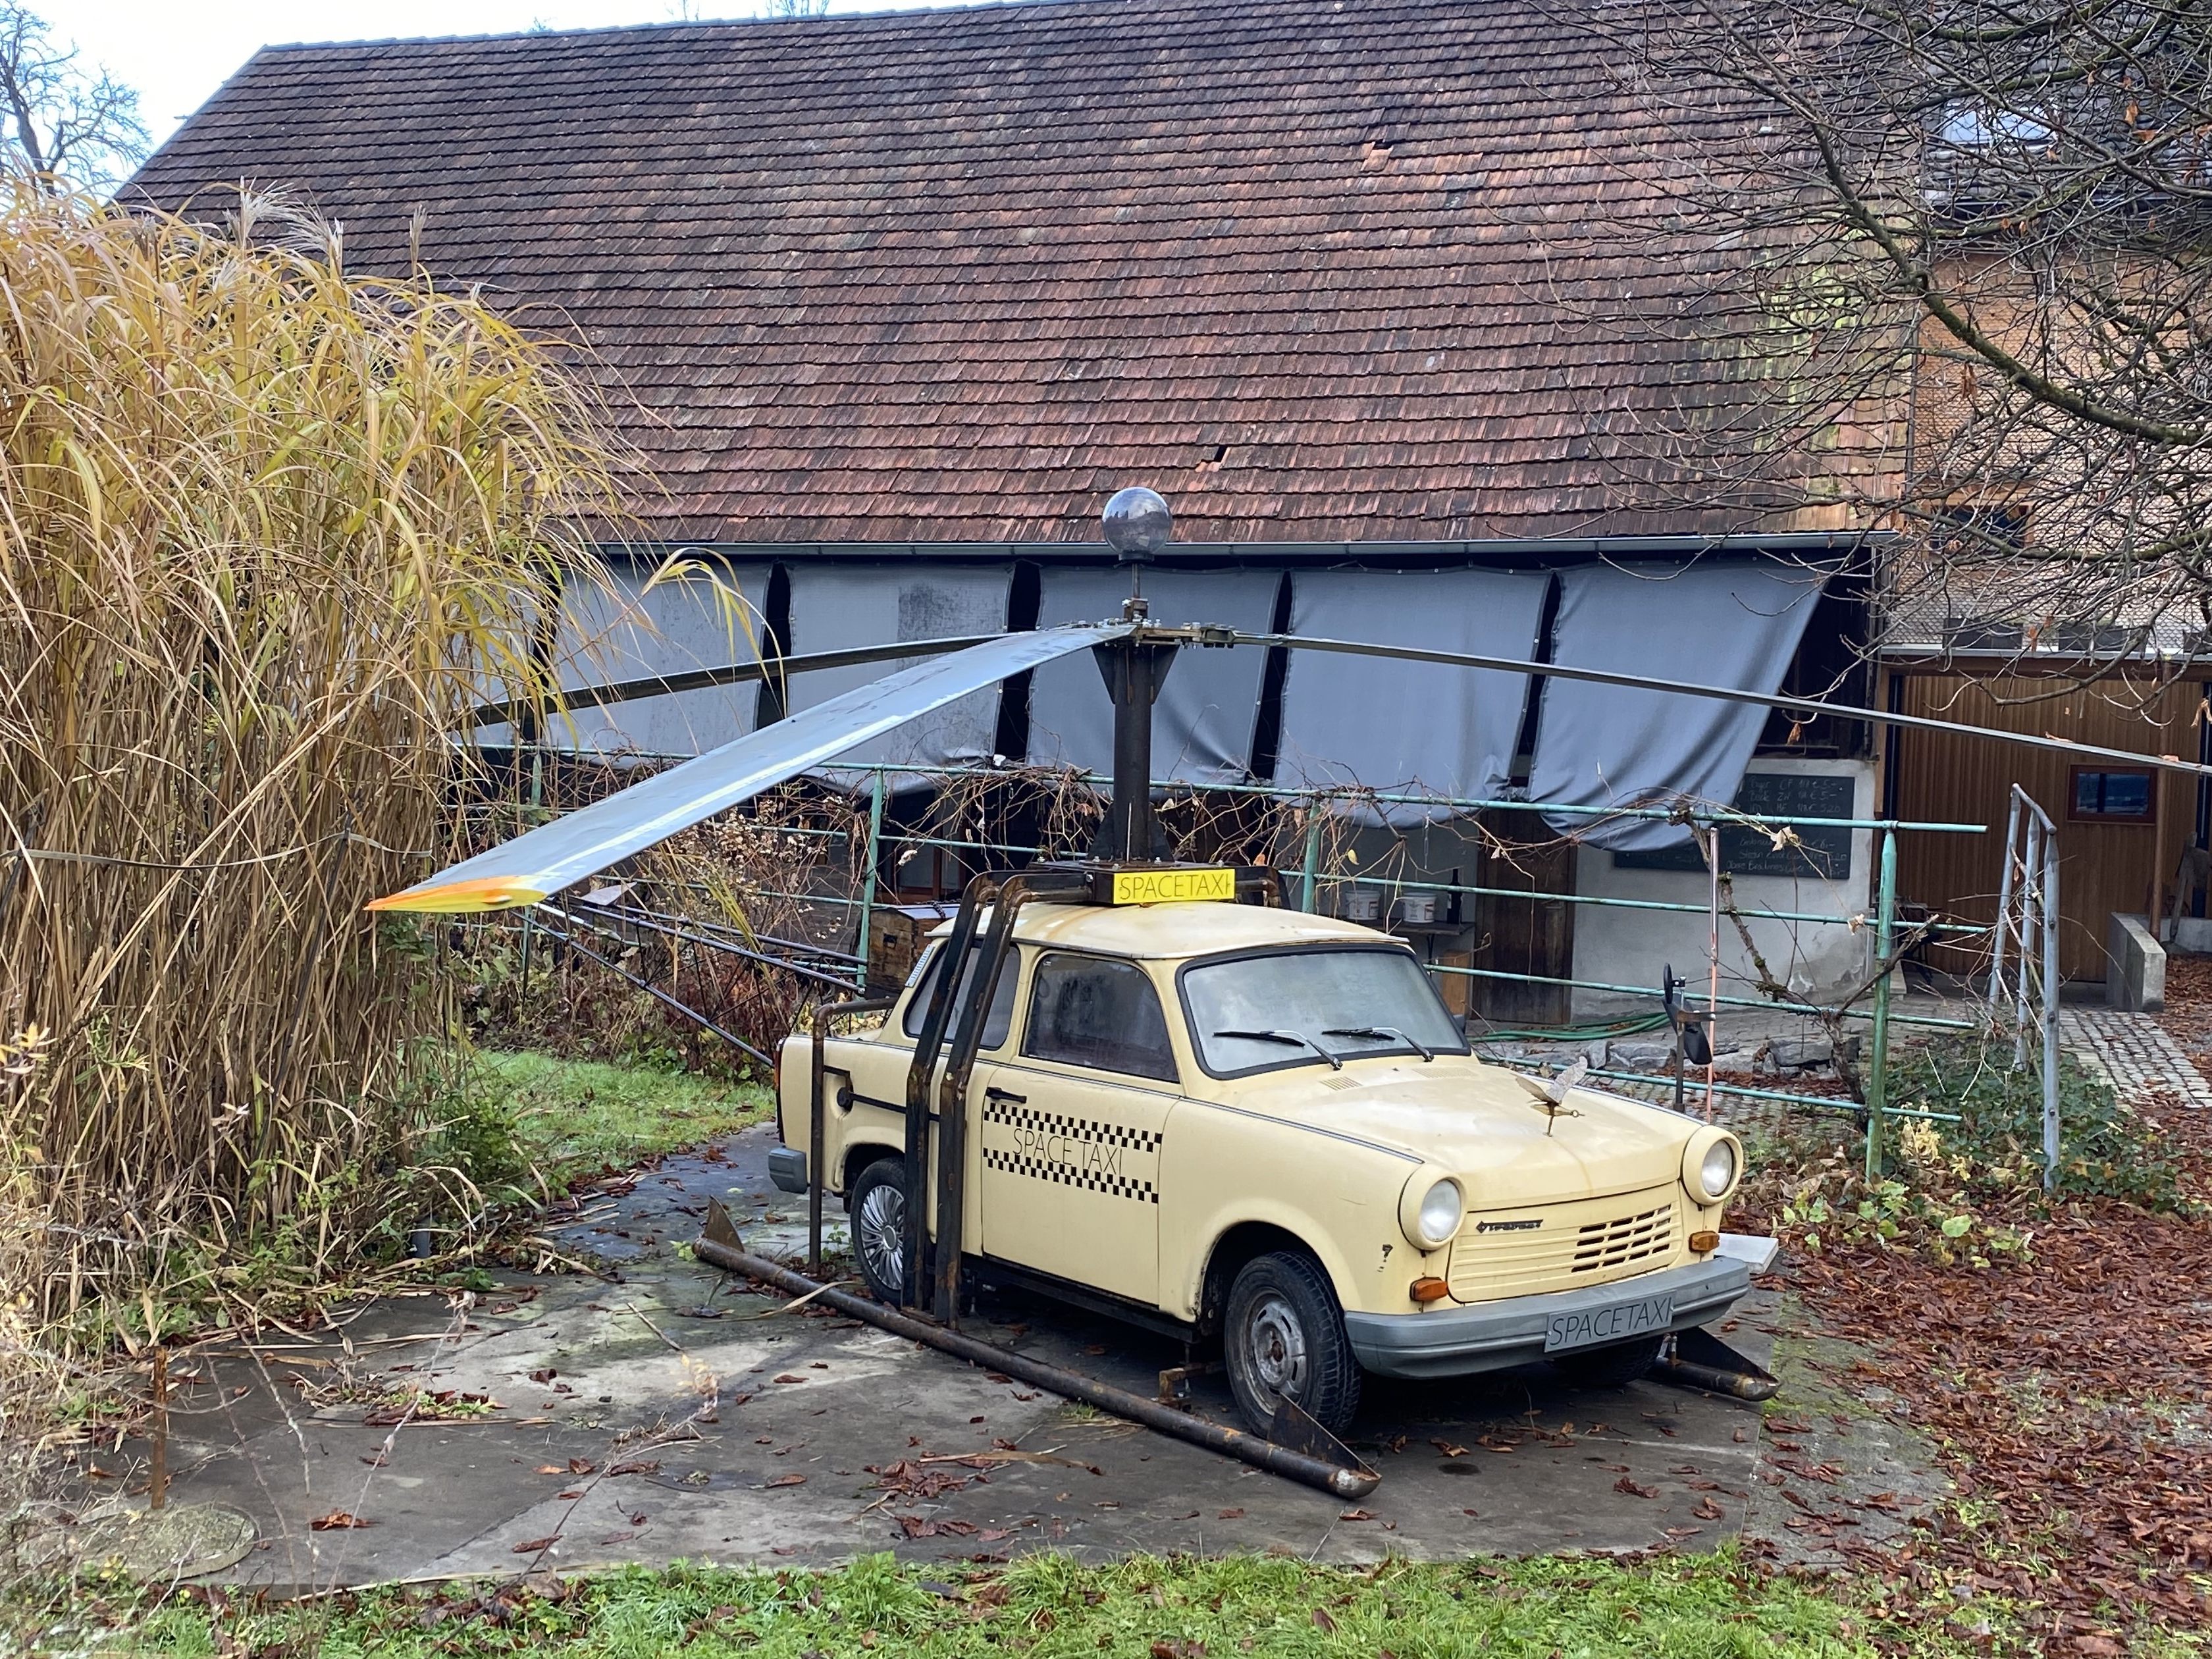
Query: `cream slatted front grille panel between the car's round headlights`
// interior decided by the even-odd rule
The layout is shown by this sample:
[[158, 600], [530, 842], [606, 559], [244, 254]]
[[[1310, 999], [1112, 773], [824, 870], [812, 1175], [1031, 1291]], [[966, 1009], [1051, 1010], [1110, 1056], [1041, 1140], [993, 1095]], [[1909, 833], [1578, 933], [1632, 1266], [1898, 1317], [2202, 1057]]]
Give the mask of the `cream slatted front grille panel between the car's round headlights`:
[[1455, 1301], [1537, 1296], [1630, 1279], [1681, 1250], [1670, 1188], [1469, 1214], [1451, 1245]]

